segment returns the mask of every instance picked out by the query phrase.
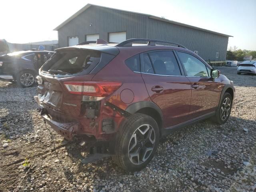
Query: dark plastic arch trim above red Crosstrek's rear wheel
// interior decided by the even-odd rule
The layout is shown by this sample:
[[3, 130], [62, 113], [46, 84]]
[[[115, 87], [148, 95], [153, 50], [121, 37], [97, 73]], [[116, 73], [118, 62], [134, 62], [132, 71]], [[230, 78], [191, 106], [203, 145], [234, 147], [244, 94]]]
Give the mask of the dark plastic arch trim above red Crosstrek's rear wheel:
[[161, 129], [163, 125], [163, 113], [162, 110], [155, 103], [150, 101], [136, 102], [128, 106], [128, 108], [126, 108], [126, 111], [130, 114], [141, 113], [152, 117], [158, 124], [161, 136]]

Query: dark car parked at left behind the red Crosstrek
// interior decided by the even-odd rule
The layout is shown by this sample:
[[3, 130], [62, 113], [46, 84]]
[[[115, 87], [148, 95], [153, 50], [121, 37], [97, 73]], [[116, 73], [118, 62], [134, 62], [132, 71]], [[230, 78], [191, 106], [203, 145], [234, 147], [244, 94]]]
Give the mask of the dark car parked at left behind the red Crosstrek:
[[17, 82], [21, 87], [35, 84], [39, 68], [54, 54], [52, 51], [29, 50], [0, 56], [0, 80]]

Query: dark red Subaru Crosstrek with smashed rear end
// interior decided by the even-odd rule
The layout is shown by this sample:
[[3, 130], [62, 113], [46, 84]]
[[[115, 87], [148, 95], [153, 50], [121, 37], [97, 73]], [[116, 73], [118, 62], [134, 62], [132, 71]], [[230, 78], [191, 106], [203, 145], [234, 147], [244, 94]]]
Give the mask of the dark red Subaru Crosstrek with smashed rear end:
[[82, 139], [98, 158], [111, 155], [124, 170], [138, 171], [166, 134], [210, 117], [228, 120], [233, 82], [184, 46], [89, 43], [56, 49], [40, 68], [35, 99], [58, 134]]

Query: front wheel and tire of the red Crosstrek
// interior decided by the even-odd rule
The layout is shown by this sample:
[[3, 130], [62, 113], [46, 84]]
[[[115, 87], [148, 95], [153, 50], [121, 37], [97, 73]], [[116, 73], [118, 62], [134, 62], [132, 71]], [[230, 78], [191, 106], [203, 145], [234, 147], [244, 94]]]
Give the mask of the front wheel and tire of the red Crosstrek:
[[218, 124], [224, 124], [230, 116], [231, 109], [232, 96], [229, 93], [225, 92], [221, 100], [220, 106], [218, 106], [216, 114], [213, 117], [213, 120]]

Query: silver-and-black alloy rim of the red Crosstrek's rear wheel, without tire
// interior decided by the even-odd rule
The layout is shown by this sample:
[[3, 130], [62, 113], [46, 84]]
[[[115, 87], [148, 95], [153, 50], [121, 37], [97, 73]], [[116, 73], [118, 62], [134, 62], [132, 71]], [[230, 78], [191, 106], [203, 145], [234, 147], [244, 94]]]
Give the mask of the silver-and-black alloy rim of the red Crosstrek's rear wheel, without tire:
[[139, 165], [145, 162], [152, 153], [156, 142], [156, 134], [149, 124], [139, 126], [128, 145], [128, 156], [133, 164]]

